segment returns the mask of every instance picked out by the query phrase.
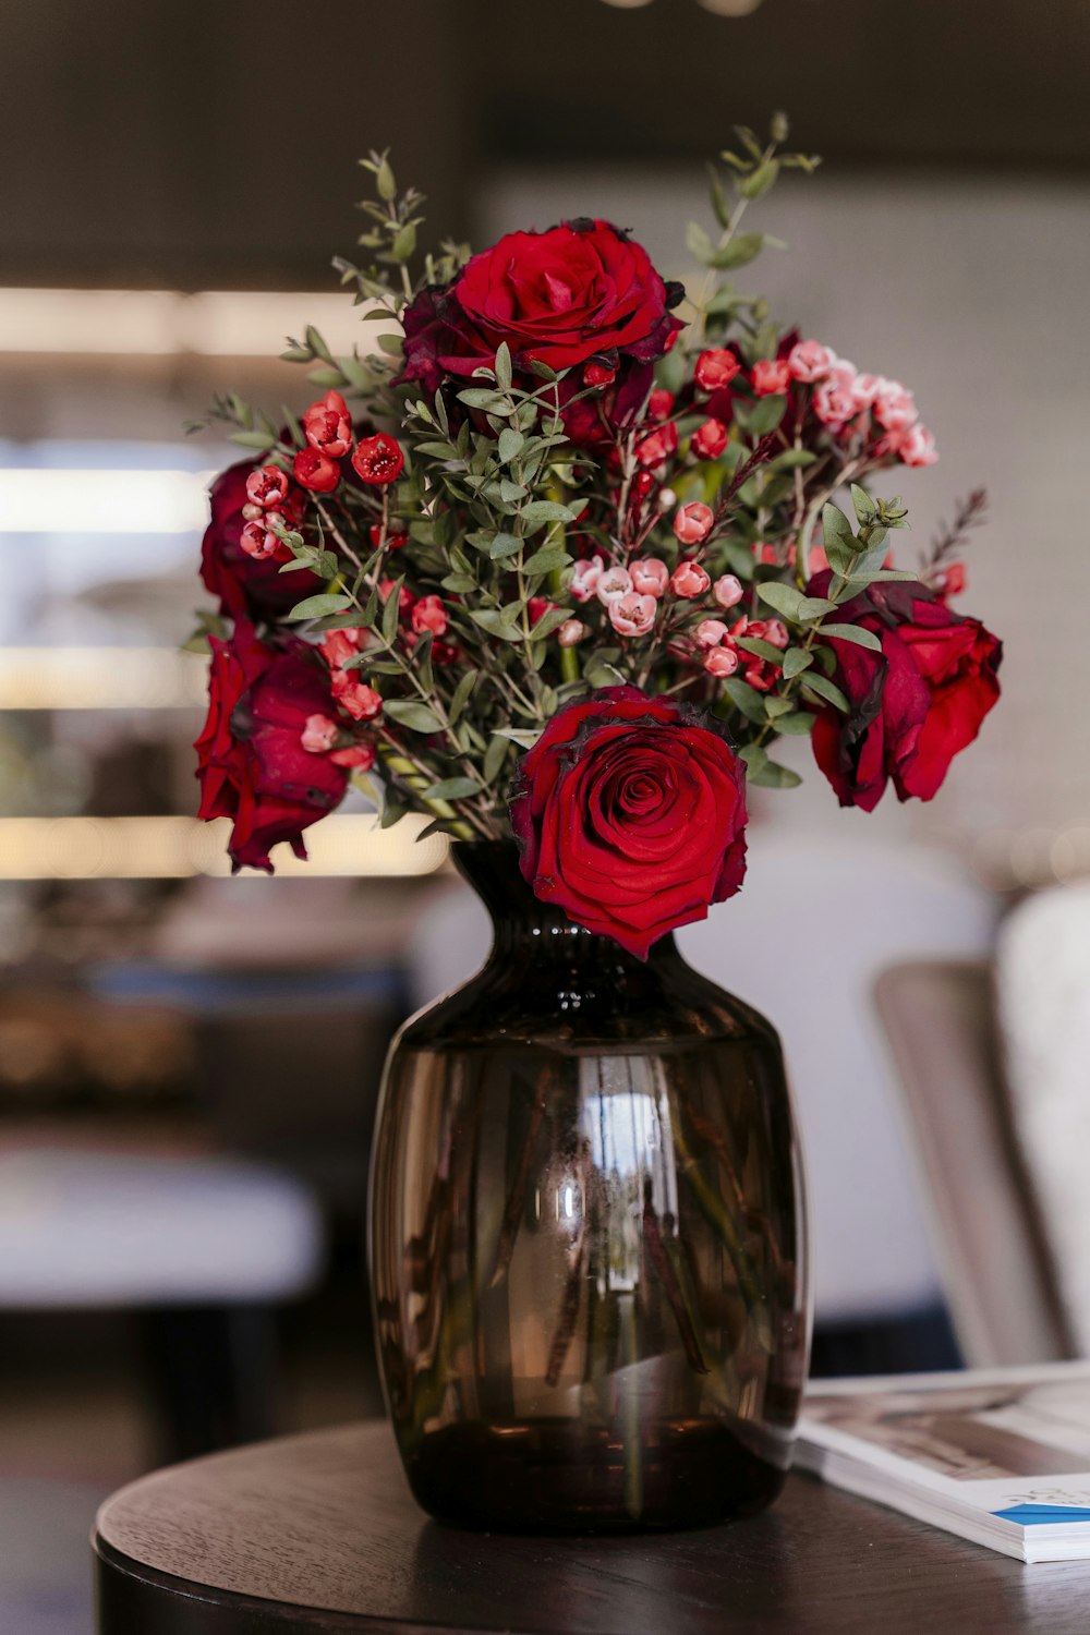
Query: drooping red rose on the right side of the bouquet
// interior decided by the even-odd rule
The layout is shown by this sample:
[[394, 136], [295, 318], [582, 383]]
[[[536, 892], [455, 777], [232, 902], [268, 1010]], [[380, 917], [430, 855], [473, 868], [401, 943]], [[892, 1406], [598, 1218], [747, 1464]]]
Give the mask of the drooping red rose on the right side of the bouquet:
[[[824, 595], [829, 580], [817, 574], [807, 595]], [[1002, 644], [979, 620], [958, 618], [909, 582], [871, 585], [837, 608], [837, 621], [873, 631], [882, 646], [829, 639], [851, 708], [819, 713], [817, 765], [842, 806], [873, 811], [891, 778], [899, 800], [930, 801], [998, 700]]]

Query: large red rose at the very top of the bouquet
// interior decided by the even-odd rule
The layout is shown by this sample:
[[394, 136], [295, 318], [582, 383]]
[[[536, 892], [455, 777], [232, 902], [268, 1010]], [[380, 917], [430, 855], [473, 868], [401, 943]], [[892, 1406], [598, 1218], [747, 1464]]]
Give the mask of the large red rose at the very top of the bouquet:
[[502, 342], [520, 371], [533, 360], [567, 370], [593, 358], [605, 371], [652, 363], [681, 329], [670, 317], [680, 299], [680, 284], [667, 286], [642, 245], [608, 221], [508, 232], [405, 311], [402, 379], [433, 392], [492, 363]]

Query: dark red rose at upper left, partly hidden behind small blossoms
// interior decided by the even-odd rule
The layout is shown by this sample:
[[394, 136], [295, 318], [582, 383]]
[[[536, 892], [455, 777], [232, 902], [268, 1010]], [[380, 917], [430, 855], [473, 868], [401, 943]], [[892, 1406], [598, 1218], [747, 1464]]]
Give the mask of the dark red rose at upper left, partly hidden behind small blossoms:
[[[212, 520], [204, 530], [201, 546], [201, 579], [206, 590], [219, 598], [224, 613], [261, 618], [286, 613], [296, 602], [315, 595], [324, 580], [309, 569], [281, 576], [279, 558], [260, 561], [242, 549], [242, 530], [247, 525], [243, 505], [252, 504], [247, 495], [247, 477], [253, 469], [255, 461], [240, 461], [221, 471], [212, 482], [209, 490]], [[283, 510], [284, 518], [297, 525], [302, 517], [297, 490], [296, 495], [288, 495]]]

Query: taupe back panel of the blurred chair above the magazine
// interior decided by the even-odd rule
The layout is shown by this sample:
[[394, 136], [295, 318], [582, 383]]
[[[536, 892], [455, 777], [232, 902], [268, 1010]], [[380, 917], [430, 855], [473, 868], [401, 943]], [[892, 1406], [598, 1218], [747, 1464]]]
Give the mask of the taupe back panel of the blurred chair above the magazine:
[[917, 960], [876, 983], [935, 1248], [971, 1367], [1075, 1355], [1000, 1071], [992, 966]]

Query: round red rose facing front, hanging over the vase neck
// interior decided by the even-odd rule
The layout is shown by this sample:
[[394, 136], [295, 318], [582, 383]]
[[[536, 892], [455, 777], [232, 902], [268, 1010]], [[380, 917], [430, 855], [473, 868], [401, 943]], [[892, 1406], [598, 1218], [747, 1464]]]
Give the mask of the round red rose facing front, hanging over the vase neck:
[[745, 873], [745, 782], [686, 705], [606, 687], [520, 760], [511, 826], [534, 896], [641, 960]]

